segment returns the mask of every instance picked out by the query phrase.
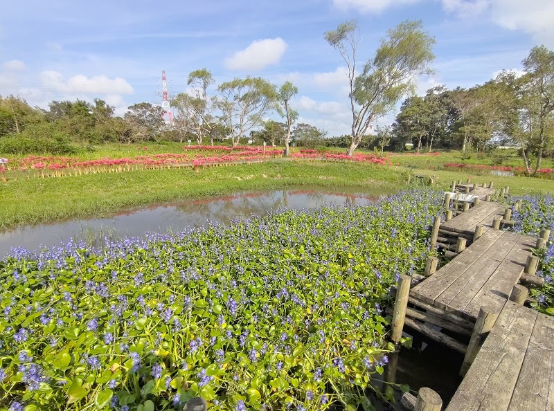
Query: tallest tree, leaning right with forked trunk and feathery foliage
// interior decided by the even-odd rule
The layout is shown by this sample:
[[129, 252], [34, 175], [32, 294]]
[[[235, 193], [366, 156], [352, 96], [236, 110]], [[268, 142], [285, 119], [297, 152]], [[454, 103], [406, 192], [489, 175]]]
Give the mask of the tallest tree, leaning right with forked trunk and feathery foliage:
[[404, 21], [388, 30], [375, 57], [364, 64], [359, 75], [357, 23], [340, 24], [337, 30], [325, 33], [325, 39], [339, 51], [348, 68], [352, 129], [346, 154], [351, 156], [373, 121], [391, 111], [404, 95], [414, 93], [415, 77], [431, 73], [435, 39], [422, 31], [420, 21]]

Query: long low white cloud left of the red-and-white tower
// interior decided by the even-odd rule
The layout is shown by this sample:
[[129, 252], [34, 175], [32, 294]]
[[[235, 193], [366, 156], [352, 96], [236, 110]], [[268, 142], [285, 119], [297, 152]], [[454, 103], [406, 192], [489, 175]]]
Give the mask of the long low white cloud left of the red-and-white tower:
[[74, 75], [69, 80], [64, 80], [59, 71], [43, 71], [40, 80], [45, 89], [66, 94], [132, 94], [133, 88], [127, 80], [116, 77], [110, 79], [105, 75]]

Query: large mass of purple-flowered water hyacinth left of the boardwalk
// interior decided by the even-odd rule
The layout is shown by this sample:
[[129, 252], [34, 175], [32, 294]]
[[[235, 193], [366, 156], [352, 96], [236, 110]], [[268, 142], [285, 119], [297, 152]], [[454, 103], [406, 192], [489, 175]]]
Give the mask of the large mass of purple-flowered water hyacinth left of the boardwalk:
[[0, 262], [2, 358], [15, 358], [0, 360], [0, 406], [31, 397], [40, 410], [100, 400], [166, 409], [191, 396], [210, 410], [357, 401], [391, 349], [390, 287], [436, 254], [427, 226], [442, 200], [410, 191], [364, 207], [105, 239], [105, 248], [14, 249]]

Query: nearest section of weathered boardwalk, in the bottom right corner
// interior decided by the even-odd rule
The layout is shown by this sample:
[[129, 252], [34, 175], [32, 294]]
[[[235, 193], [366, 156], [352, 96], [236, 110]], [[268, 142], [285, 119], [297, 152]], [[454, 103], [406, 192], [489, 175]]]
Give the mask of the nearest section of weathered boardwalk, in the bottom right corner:
[[508, 301], [446, 411], [554, 409], [554, 318]]

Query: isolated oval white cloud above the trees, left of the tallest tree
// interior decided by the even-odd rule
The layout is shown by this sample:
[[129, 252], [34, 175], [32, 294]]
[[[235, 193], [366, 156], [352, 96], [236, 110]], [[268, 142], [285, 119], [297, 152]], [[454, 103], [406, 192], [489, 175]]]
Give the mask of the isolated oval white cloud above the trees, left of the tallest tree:
[[285, 40], [276, 39], [256, 40], [244, 50], [237, 51], [233, 57], [225, 60], [225, 66], [231, 70], [256, 71], [281, 60], [287, 50]]

